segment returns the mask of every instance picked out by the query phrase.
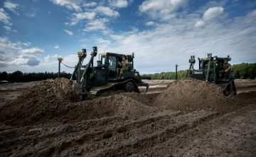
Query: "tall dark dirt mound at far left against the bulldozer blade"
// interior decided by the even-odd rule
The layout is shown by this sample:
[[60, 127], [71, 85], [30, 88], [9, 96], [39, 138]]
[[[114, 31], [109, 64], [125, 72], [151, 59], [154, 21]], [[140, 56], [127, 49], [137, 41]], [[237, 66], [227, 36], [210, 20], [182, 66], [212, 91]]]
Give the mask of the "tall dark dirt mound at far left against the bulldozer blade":
[[27, 124], [55, 114], [60, 107], [72, 102], [72, 84], [64, 78], [37, 82], [18, 99], [1, 107], [1, 121], [9, 119], [11, 124], [14, 121]]

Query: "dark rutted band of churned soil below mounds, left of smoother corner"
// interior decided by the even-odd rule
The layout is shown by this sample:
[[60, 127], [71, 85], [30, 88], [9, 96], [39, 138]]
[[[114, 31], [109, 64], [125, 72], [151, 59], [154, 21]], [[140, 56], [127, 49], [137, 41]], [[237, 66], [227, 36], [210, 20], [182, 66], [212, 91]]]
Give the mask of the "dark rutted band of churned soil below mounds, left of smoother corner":
[[[215, 115], [215, 112], [165, 111], [154, 116], [131, 120], [107, 117], [75, 124], [52, 124], [8, 129], [0, 132], [1, 154], [73, 156], [129, 155], [144, 146], [159, 144]], [[15, 137], [14, 137], [15, 136]], [[40, 141], [40, 142], [38, 142]], [[18, 148], [10, 149], [14, 143]], [[26, 150], [26, 151], [24, 151]]]

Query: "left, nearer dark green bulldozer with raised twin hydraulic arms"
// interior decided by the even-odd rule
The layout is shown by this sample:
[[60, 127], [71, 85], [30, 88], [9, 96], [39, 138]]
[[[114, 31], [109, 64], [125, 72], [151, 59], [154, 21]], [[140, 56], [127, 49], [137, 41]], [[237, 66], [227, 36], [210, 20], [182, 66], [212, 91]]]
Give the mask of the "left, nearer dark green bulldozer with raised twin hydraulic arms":
[[[82, 65], [87, 57], [86, 49], [78, 52], [78, 64], [70, 77], [75, 82], [74, 90], [80, 94], [80, 99], [85, 97], [101, 97], [119, 92], [140, 92], [139, 86], [146, 87], [144, 92], [149, 90], [149, 84], [142, 82], [139, 72], [134, 69], [134, 53], [124, 55], [118, 53], [102, 53], [99, 55], [97, 65], [93, 60], [97, 56], [97, 47], [92, 48], [90, 60], [87, 65]], [[119, 61], [125, 56], [128, 61], [128, 70], [117, 79], [117, 68]]]

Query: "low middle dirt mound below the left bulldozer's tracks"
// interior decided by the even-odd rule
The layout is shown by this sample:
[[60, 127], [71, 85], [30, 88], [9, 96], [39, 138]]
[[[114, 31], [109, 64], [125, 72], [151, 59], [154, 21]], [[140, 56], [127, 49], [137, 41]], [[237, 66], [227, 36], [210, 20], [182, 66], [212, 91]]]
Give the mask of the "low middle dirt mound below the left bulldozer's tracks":
[[148, 114], [154, 114], [156, 111], [156, 107], [149, 107], [123, 94], [99, 97], [76, 104], [80, 106], [79, 110], [83, 111], [82, 114], [87, 114], [88, 119], [107, 116], [137, 119]]

